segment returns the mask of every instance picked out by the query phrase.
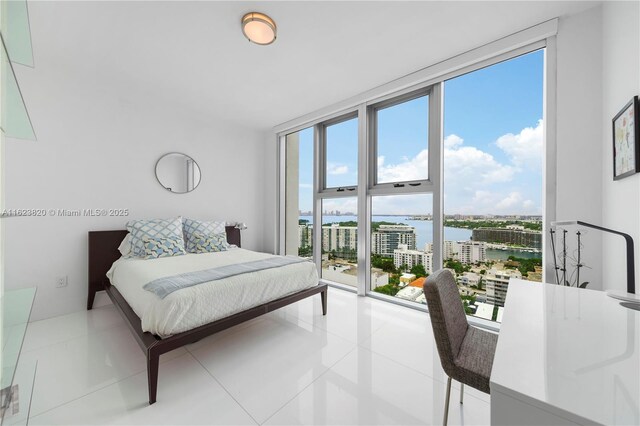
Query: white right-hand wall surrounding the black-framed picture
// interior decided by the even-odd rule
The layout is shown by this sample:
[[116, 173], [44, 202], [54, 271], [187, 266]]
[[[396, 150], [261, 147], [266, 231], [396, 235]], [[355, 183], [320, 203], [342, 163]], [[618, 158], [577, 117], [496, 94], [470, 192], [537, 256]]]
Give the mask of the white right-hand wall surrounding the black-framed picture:
[[[602, 219], [605, 227], [634, 238], [636, 288], [640, 290], [640, 174], [613, 181], [611, 140], [611, 119], [634, 95], [640, 95], [639, 3], [606, 2], [602, 28]], [[626, 289], [625, 256], [622, 238], [604, 239], [605, 288]]]

